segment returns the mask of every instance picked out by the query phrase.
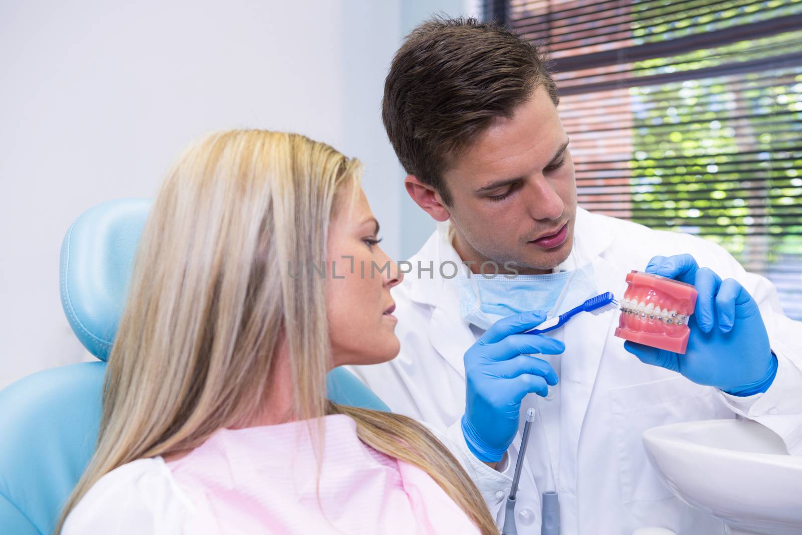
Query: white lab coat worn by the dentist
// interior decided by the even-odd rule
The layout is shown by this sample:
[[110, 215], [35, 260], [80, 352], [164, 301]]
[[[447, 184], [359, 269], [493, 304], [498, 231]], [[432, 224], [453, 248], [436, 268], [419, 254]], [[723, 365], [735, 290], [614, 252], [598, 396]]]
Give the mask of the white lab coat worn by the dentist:
[[[399, 356], [350, 370], [392, 411], [421, 419], [459, 441], [465, 400], [463, 355], [480, 332], [460, 318], [456, 278], [439, 273], [443, 261], [460, 263], [448, 236], [448, 224], [439, 225], [410, 259], [412, 272], [393, 290]], [[802, 455], [802, 323], [784, 316], [771, 282], [747, 273], [710, 241], [584, 209], [577, 210], [575, 236], [577, 253], [593, 261], [599, 292], [610, 290], [618, 298], [626, 289], [626, 274], [645, 269], [658, 254], [691, 253], [700, 266], [721, 278], [735, 278], [759, 303], [779, 368], [764, 394], [736, 398], [641, 363], [624, 351], [624, 341], [614, 336], [618, 311], [578, 314], [562, 328], [565, 353], [550, 358], [560, 377], [556, 397], [549, 401], [528, 395], [522, 405], [520, 429], [528, 407], [538, 407], [539, 413], [520, 480], [519, 533], [540, 533], [540, 496], [551, 486], [546, 476], [549, 464], [560, 493], [561, 533], [566, 535], [630, 535], [645, 526], [662, 526], [678, 535], [723, 533], [720, 521], [683, 504], [660, 483], [646, 458], [641, 434], [662, 424], [739, 414], [776, 432], [792, 455]], [[418, 276], [419, 262], [424, 270], [433, 262], [434, 270]], [[446, 277], [452, 272], [450, 266], [444, 269]], [[468, 468], [499, 522], [520, 429], [508, 450], [508, 467], [501, 473], [481, 470], [476, 464]], [[460, 448], [467, 449], [464, 440]]]

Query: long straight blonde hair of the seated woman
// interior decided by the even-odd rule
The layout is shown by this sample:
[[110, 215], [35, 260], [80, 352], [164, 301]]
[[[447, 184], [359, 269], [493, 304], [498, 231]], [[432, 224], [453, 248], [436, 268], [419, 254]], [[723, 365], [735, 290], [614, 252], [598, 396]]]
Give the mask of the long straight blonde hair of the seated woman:
[[481, 533], [498, 533], [468, 474], [426, 428], [326, 400], [326, 282], [288, 270], [326, 260], [329, 222], [342, 204], [335, 197], [359, 175], [357, 160], [282, 132], [219, 132], [184, 152], [140, 238], [97, 449], [55, 533], [111, 470], [191, 450], [257, 416], [282, 336], [296, 418], [349, 415], [365, 444], [423, 469]]

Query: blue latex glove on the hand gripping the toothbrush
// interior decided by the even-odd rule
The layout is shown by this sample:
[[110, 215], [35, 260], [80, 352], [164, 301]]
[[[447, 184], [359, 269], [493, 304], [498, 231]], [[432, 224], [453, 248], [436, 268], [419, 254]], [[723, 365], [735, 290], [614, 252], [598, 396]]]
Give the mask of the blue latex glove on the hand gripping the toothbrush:
[[521, 400], [530, 392], [548, 395], [548, 385], [557, 384], [554, 368], [529, 355], [559, 355], [565, 345], [542, 334], [520, 334], [545, 318], [537, 311], [500, 319], [465, 353], [462, 432], [479, 460], [501, 460], [518, 432]]

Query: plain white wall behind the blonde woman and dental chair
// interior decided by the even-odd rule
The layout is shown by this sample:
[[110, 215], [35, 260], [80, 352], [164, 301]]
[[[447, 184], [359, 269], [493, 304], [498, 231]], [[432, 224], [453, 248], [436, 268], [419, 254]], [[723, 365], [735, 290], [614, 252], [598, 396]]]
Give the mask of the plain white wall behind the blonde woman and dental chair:
[[387, 252], [414, 252], [431, 224], [403, 193], [383, 79], [403, 34], [463, 2], [0, 3], [0, 388], [89, 358], [59, 301], [67, 226], [152, 197], [205, 132], [290, 130], [358, 156]]

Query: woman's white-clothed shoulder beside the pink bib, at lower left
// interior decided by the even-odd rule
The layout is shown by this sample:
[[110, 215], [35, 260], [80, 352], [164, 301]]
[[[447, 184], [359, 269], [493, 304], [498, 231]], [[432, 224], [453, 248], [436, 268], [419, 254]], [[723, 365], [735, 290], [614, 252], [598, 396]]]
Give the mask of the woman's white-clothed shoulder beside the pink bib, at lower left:
[[192, 509], [161, 457], [138, 459], [92, 485], [67, 517], [62, 535], [180, 533]]

